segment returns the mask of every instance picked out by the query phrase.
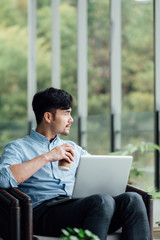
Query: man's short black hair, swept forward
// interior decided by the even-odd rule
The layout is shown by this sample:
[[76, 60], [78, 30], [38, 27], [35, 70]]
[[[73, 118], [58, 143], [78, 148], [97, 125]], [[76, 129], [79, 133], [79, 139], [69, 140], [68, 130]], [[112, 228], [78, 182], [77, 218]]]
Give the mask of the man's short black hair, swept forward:
[[73, 97], [62, 89], [47, 88], [37, 92], [32, 101], [37, 124], [43, 119], [44, 113], [55, 109], [66, 110], [72, 108]]

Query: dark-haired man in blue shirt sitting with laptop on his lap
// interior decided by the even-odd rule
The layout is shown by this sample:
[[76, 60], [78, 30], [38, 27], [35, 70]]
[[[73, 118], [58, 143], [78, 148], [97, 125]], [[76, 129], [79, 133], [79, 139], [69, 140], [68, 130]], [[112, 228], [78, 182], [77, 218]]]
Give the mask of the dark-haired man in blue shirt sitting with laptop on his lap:
[[[30, 136], [6, 145], [0, 164], [0, 186], [19, 187], [33, 203], [34, 233], [59, 236], [61, 229], [81, 227], [106, 240], [122, 227], [125, 240], [149, 240], [149, 224], [141, 197], [123, 193], [116, 197], [93, 195], [65, 200], [70, 196], [80, 156], [88, 154], [58, 134], [68, 135], [73, 122], [73, 99], [63, 90], [48, 88], [33, 98], [37, 127]], [[58, 161], [71, 163], [58, 169]]]

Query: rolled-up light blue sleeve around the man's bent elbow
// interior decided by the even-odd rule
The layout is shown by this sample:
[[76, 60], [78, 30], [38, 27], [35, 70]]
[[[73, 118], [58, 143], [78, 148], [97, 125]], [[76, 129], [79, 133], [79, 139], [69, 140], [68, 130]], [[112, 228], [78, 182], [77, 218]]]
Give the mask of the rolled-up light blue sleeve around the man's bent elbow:
[[17, 187], [18, 182], [12, 175], [10, 166], [21, 163], [18, 147], [12, 144], [6, 145], [0, 159], [0, 187]]

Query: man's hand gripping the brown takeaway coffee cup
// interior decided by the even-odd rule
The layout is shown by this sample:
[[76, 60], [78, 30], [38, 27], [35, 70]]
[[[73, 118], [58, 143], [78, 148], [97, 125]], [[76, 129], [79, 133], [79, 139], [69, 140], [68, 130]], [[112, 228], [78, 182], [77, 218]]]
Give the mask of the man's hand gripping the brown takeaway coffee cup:
[[74, 161], [74, 147], [69, 144], [63, 144], [53, 148], [50, 152], [46, 153], [46, 158], [50, 162], [65, 159], [67, 162]]

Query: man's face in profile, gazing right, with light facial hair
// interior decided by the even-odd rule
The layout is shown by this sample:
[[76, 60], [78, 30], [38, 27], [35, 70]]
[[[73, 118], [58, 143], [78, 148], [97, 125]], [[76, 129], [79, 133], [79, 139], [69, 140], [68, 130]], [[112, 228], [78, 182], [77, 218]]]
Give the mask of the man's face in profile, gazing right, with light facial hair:
[[55, 134], [69, 134], [70, 127], [73, 122], [73, 118], [71, 117], [71, 111], [71, 108], [67, 110], [56, 110], [52, 124], [52, 131], [54, 131]]

